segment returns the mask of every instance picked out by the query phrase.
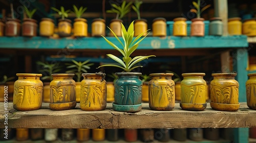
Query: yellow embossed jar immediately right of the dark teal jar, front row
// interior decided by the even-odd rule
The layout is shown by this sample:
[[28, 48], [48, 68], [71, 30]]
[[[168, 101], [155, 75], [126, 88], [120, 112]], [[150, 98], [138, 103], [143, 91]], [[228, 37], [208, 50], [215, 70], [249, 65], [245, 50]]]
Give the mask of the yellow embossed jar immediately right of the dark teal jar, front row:
[[172, 110], [175, 106], [175, 83], [171, 73], [150, 74], [149, 105], [153, 110]]

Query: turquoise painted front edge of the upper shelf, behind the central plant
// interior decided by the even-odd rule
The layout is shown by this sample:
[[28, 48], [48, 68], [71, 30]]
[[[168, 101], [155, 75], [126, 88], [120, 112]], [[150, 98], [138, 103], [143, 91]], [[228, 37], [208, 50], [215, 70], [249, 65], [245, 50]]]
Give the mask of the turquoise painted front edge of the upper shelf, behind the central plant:
[[[120, 37], [121, 38], [121, 37]], [[115, 37], [108, 37], [117, 46], [121, 44]], [[121, 40], [122, 41], [122, 40]], [[6, 49], [95, 49], [113, 50], [102, 37], [59, 38], [47, 37], [0, 37], [0, 48]], [[248, 47], [247, 37], [241, 36], [205, 36], [205, 37], [146, 37], [138, 49], [189, 49]]]

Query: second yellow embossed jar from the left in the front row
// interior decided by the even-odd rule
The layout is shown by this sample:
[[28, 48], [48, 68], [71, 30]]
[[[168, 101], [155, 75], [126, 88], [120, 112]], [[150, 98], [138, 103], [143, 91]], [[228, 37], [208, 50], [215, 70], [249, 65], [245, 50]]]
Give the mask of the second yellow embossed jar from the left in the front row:
[[68, 110], [76, 106], [75, 74], [52, 74], [50, 83], [50, 109]]

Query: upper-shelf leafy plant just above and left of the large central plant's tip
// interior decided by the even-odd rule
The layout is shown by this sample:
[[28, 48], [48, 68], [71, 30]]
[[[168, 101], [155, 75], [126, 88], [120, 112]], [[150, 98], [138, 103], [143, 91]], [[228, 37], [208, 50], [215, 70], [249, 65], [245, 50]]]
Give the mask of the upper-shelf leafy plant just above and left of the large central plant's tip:
[[111, 4], [113, 8], [110, 10], [107, 10], [108, 13], [116, 13], [116, 19], [122, 19], [127, 13], [131, 11], [131, 5], [133, 2], [130, 2], [126, 5], [126, 2], [123, 1], [121, 6], [118, 6], [116, 4]]

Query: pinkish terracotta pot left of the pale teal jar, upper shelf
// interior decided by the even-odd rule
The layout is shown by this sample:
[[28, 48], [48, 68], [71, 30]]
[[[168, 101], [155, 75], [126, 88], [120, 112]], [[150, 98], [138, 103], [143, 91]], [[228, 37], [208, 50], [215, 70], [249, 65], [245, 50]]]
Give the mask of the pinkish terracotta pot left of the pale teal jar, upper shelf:
[[193, 18], [191, 19], [191, 36], [204, 36], [204, 18]]

